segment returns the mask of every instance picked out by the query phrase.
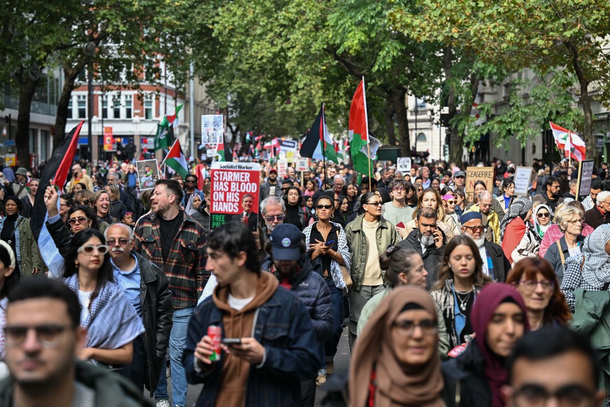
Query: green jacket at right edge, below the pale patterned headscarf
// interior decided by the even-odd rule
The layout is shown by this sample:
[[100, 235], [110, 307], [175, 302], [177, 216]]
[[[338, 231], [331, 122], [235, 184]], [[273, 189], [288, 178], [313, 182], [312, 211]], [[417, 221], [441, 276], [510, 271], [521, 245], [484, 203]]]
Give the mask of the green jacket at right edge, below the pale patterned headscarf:
[[601, 367], [600, 388], [610, 394], [610, 292], [575, 290], [574, 311], [572, 328], [591, 340]]

